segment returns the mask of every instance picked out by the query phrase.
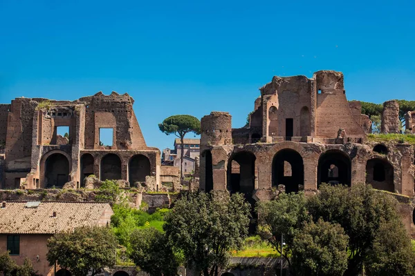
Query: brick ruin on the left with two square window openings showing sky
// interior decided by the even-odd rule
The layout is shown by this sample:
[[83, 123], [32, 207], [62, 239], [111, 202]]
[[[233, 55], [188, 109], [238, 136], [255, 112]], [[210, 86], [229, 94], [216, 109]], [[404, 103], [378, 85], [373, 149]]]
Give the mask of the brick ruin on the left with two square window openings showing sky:
[[[75, 101], [16, 98], [0, 105], [0, 181], [10, 188], [81, 188], [84, 179], [160, 185], [160, 150], [145, 144], [127, 93]], [[68, 137], [57, 134], [68, 128]], [[111, 146], [100, 129], [113, 132]]]

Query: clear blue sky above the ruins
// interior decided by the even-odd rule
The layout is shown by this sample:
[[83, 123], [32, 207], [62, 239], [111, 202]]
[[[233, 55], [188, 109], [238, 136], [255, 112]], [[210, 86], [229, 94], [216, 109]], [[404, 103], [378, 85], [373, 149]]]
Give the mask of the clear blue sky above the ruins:
[[[415, 1], [0, 0], [0, 103], [129, 92], [147, 145], [165, 117], [243, 126], [273, 75], [344, 72], [348, 99], [415, 100]], [[189, 135], [188, 137], [193, 137]]]

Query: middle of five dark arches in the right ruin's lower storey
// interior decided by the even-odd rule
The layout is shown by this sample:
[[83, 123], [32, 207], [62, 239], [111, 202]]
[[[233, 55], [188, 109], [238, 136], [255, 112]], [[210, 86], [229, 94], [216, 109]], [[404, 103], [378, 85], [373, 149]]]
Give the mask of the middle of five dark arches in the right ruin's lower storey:
[[295, 150], [284, 148], [273, 158], [273, 186], [284, 185], [286, 193], [298, 193], [304, 185], [304, 164]]

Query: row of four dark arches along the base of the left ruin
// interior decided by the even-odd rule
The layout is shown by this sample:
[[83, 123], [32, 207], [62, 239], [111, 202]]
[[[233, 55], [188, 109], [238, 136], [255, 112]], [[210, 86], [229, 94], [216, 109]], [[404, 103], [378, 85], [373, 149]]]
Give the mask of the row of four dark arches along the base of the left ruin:
[[[94, 174], [94, 157], [85, 153], [80, 159], [80, 183], [85, 177]], [[62, 153], [55, 152], [46, 157], [44, 172], [44, 187], [62, 188], [66, 182], [71, 181], [69, 174], [71, 172], [71, 163], [68, 157]], [[100, 180], [117, 180], [122, 179], [122, 162], [118, 155], [109, 153], [100, 160], [99, 168]], [[133, 155], [128, 162], [128, 180], [130, 183], [144, 182], [147, 175], [151, 175], [151, 164], [149, 158], [145, 155]]]

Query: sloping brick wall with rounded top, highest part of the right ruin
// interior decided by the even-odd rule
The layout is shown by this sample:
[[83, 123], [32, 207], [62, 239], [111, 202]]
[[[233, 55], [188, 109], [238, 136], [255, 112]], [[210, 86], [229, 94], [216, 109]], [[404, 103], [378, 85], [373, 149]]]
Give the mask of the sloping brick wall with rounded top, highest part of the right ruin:
[[365, 137], [358, 108], [354, 106], [354, 115], [349, 108], [342, 72], [318, 71], [314, 78], [317, 90], [315, 137], [337, 137], [339, 128], [344, 128], [347, 137]]

